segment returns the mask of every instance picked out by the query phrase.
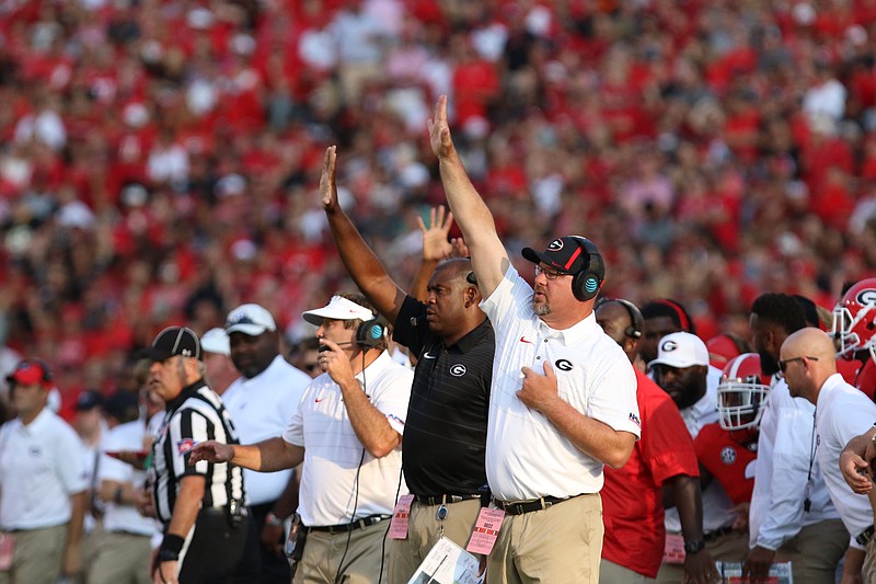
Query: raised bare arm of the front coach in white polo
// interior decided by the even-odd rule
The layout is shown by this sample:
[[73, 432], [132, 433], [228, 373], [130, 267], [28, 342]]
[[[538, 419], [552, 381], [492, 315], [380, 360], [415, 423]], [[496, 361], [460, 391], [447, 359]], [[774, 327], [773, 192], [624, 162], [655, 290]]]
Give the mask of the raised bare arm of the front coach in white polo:
[[447, 95], [438, 98], [435, 117], [429, 119], [429, 142], [445, 186], [447, 202], [472, 253], [472, 267], [481, 294], [486, 298], [499, 285], [510, 260], [496, 232], [496, 224], [481, 195], [472, 185], [459, 158], [447, 124]]

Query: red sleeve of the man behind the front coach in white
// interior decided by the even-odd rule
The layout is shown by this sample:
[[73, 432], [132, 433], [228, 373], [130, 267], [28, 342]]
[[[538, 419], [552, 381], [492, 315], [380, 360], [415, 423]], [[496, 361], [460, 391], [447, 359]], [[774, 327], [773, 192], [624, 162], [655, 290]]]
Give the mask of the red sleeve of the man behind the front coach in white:
[[690, 432], [672, 399], [647, 376], [636, 371], [642, 420], [642, 458], [654, 482], [662, 484], [677, 474], [699, 477], [700, 468]]

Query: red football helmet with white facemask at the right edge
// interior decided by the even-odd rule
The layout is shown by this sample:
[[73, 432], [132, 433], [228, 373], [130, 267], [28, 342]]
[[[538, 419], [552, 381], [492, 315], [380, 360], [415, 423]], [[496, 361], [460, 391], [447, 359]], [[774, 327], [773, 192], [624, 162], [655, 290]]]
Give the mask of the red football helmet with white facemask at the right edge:
[[838, 357], [854, 358], [869, 351], [876, 359], [876, 278], [862, 279], [833, 308], [833, 337], [840, 342]]

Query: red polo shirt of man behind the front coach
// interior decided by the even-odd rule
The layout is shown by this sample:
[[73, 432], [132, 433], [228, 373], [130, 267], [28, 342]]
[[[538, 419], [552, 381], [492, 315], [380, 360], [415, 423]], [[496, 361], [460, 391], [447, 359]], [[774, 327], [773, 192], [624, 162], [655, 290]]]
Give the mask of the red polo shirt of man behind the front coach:
[[699, 477], [690, 432], [666, 391], [636, 371], [642, 438], [621, 469], [606, 468], [602, 558], [656, 577], [664, 558], [661, 485], [678, 474]]

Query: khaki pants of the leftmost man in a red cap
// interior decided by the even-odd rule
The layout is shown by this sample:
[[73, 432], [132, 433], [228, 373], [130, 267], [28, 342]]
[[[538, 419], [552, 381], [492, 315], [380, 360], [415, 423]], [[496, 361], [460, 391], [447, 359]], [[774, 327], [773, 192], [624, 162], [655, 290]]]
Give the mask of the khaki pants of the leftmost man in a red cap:
[[55, 584], [61, 573], [67, 525], [7, 534], [14, 539], [12, 569], [0, 584]]

